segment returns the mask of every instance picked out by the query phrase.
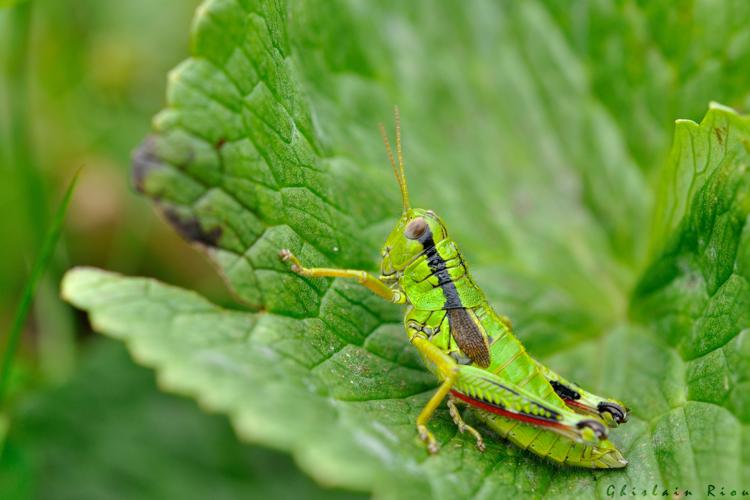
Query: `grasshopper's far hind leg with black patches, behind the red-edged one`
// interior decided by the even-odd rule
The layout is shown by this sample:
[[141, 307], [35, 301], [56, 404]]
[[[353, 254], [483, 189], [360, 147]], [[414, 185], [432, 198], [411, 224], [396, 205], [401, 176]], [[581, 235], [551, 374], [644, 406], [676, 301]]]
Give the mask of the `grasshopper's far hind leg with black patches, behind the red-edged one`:
[[565, 380], [538, 361], [534, 362], [557, 395], [573, 410], [586, 415], [598, 415], [609, 427], [617, 427], [628, 421], [629, 410], [621, 402], [592, 394]]

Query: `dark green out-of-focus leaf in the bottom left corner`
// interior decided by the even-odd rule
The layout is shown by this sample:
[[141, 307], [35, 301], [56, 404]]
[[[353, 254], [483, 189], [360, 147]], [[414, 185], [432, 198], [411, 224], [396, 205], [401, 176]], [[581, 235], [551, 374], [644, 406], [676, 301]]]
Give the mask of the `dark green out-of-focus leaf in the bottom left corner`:
[[352, 498], [289, 457], [237, 443], [226, 421], [158, 392], [126, 350], [97, 340], [66, 385], [27, 398], [0, 461], [0, 497]]

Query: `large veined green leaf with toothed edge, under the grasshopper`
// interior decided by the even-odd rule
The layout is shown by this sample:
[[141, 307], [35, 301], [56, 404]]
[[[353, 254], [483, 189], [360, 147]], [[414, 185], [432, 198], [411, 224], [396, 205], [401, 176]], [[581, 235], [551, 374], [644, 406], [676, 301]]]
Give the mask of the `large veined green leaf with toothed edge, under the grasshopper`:
[[[719, 97], [745, 98], [750, 41], [734, 16], [708, 29], [722, 9], [685, 21], [605, 5], [206, 2], [133, 179], [247, 308], [92, 269], [68, 274], [64, 296], [163, 387], [324, 484], [437, 498], [746, 485], [747, 120], [714, 106], [678, 122], [650, 175], [669, 120], [696, 118], [706, 89], [726, 79]], [[725, 42], [723, 58], [709, 50]], [[279, 261], [289, 247], [375, 269], [399, 211], [376, 131], [394, 102], [412, 201], [447, 221], [493, 305], [534, 355], [632, 407], [612, 432], [624, 471], [494, 439], [480, 454], [445, 410], [428, 457], [414, 420], [434, 380], [402, 311]]]

